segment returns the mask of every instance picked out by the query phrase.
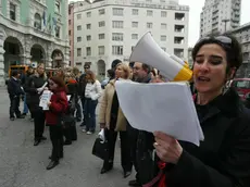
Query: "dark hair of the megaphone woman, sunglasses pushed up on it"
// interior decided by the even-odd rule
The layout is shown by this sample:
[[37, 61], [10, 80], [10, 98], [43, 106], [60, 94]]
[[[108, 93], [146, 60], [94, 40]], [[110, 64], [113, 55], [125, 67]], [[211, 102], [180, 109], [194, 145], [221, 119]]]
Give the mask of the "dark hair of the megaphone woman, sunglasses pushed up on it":
[[202, 46], [209, 45], [209, 43], [216, 43], [216, 45], [221, 46], [226, 52], [226, 60], [228, 63], [227, 70], [229, 70], [230, 67], [236, 67], [236, 70], [238, 70], [240, 67], [240, 65], [242, 64], [241, 45], [232, 35], [224, 34], [224, 35], [220, 35], [220, 36], [224, 36], [224, 37], [232, 39], [232, 42], [230, 43], [224, 43], [224, 42], [220, 41], [218, 39], [216, 39], [216, 37], [218, 37], [217, 35], [211, 35], [208, 38], [205, 37], [204, 39], [199, 40], [192, 50], [193, 62], [196, 60], [196, 55], [197, 55], [198, 51], [200, 50], [200, 48]]

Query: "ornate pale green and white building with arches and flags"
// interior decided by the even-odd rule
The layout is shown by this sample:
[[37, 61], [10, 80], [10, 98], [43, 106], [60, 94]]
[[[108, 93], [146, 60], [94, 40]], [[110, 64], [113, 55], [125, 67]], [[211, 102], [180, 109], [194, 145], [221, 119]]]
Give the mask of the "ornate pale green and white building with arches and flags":
[[10, 65], [68, 64], [67, 0], [0, 1], [0, 79]]

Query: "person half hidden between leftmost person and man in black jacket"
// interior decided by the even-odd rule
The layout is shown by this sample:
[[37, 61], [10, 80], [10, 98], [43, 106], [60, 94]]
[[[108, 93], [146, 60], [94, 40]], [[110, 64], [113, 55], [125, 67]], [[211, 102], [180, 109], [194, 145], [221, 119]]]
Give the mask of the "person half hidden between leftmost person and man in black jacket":
[[[26, 74], [22, 78], [22, 86], [25, 87], [25, 84], [27, 83], [29, 76], [34, 74], [34, 68], [32, 65], [28, 66], [28, 70], [26, 71]], [[28, 113], [28, 110], [30, 112], [30, 105], [27, 104], [27, 97], [30, 97], [28, 92], [25, 92], [24, 95], [24, 108], [23, 108], [23, 115], [26, 115]], [[34, 119], [33, 113], [30, 112], [30, 120]]]

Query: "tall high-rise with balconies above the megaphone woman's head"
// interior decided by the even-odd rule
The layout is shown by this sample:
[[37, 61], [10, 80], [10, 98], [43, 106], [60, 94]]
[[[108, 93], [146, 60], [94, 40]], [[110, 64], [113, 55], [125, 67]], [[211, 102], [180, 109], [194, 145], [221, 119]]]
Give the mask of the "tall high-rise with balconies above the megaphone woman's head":
[[200, 37], [238, 27], [240, 7], [241, 0], [205, 0], [200, 15]]

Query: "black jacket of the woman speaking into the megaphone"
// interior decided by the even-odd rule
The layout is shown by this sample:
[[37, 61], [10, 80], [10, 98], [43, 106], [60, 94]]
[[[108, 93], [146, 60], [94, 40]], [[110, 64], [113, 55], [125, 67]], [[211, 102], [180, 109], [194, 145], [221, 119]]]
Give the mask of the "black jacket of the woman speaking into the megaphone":
[[200, 147], [179, 141], [184, 152], [166, 169], [167, 187], [249, 187], [249, 110], [233, 89], [196, 107], [204, 141]]

